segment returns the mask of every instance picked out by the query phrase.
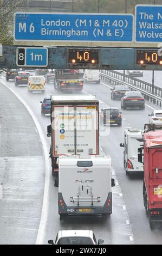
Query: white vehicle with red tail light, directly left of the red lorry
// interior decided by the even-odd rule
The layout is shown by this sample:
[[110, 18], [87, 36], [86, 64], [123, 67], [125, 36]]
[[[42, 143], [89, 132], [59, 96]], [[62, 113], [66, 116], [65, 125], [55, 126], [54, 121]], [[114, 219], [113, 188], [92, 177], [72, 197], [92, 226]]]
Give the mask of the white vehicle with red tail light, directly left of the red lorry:
[[124, 147], [124, 167], [126, 174], [135, 172], [144, 172], [144, 166], [138, 162], [138, 148], [144, 144], [142, 139], [142, 130], [128, 128], [125, 130], [124, 143], [120, 143], [120, 147]]

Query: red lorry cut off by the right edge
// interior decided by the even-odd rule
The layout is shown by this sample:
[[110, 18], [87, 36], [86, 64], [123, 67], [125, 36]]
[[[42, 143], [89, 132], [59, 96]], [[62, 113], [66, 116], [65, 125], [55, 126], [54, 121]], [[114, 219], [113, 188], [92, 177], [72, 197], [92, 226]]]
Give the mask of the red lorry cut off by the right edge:
[[143, 139], [138, 159], [144, 161], [143, 198], [152, 229], [153, 222], [162, 222], [162, 127], [145, 124]]

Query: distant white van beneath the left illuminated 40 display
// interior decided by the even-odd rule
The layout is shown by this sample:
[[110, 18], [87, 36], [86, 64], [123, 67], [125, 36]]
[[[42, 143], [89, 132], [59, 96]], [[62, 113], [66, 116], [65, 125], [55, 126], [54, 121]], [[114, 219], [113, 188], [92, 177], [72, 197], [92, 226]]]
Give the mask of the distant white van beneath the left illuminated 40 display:
[[100, 71], [97, 69], [85, 69], [83, 79], [85, 80], [85, 83], [100, 83]]

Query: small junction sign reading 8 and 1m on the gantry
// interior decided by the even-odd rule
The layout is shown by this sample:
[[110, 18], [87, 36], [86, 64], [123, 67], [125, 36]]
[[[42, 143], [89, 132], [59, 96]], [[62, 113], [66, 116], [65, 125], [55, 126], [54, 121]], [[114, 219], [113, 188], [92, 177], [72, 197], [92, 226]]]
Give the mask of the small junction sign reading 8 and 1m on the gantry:
[[48, 66], [48, 48], [46, 47], [18, 47], [16, 52], [17, 66]]

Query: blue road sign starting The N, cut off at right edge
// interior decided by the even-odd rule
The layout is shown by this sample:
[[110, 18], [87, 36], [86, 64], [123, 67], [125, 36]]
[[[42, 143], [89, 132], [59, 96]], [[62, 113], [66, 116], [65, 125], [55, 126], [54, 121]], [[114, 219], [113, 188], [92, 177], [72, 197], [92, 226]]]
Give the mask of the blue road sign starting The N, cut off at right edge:
[[161, 42], [162, 5], [136, 5], [135, 41]]

